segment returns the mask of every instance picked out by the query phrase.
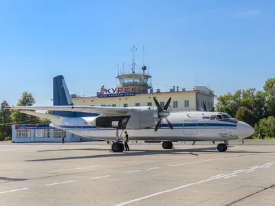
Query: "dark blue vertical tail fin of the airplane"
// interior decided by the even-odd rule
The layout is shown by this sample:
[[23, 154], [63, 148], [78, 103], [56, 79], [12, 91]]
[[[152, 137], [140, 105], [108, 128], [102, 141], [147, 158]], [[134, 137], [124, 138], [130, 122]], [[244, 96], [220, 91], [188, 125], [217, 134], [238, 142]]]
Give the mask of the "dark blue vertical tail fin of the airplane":
[[[74, 105], [71, 95], [67, 88], [67, 84], [62, 75], [54, 77], [54, 106], [69, 106]], [[54, 111], [54, 115], [63, 117], [76, 117], [75, 112], [70, 111]]]

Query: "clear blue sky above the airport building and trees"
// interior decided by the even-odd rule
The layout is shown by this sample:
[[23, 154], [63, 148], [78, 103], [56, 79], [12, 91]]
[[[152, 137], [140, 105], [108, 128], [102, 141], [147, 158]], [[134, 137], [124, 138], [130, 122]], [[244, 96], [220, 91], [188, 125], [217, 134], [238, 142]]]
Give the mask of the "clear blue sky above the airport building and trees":
[[[29, 91], [51, 105], [52, 78], [96, 95], [149, 65], [154, 89], [210, 85], [217, 95], [261, 89], [275, 76], [275, 1], [1, 1], [0, 101]], [[121, 68], [121, 67], [120, 67]], [[196, 78], [197, 75], [197, 78]]]

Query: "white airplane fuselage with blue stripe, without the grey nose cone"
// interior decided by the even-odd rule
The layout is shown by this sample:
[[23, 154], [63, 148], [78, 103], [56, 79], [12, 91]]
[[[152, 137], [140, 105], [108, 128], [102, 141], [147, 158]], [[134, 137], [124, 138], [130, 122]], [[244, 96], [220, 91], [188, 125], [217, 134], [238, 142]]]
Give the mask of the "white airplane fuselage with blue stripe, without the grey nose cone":
[[[228, 141], [238, 139], [237, 120], [220, 121], [210, 119], [213, 112], [179, 112], [170, 113], [167, 117], [173, 124], [173, 130], [168, 127], [163, 119], [161, 127], [155, 132], [155, 128], [131, 129], [126, 128], [129, 140], [142, 141]], [[115, 128], [98, 128], [91, 124], [96, 117], [65, 117], [62, 122], [53, 122], [52, 126], [68, 130], [70, 133], [94, 139], [115, 141]], [[134, 117], [130, 117], [134, 118]], [[122, 130], [119, 131], [119, 135]], [[120, 139], [123, 138], [123, 134]]]

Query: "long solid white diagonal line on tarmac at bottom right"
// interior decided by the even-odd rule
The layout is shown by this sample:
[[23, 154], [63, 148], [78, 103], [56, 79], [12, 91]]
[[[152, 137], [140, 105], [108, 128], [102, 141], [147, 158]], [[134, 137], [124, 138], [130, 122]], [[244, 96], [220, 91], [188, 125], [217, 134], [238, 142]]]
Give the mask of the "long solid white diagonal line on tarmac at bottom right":
[[[275, 164], [275, 163], [274, 163], [274, 164]], [[263, 168], [264, 166], [265, 166], [265, 165], [259, 166], [259, 168]], [[135, 202], [137, 202], [137, 201], [142, 201], [142, 200], [144, 200], [144, 199], [146, 199], [146, 198], [151, 198], [151, 197], [157, 196], [157, 195], [159, 195], [159, 194], [164, 194], [164, 193], [167, 193], [167, 192], [173, 192], [173, 191], [175, 191], [175, 190], [180, 190], [180, 189], [182, 189], [182, 188], [184, 188], [184, 187], [190, 187], [190, 186], [192, 186], [192, 185], [197, 185], [197, 184], [200, 184], [200, 183], [206, 183], [206, 182], [212, 181], [212, 180], [214, 180], [214, 179], [221, 179], [221, 178], [224, 178], [225, 176], [228, 176], [228, 178], [229, 178], [229, 177], [232, 177], [233, 175], [235, 176], [237, 173], [246, 172], [246, 171], [251, 171], [251, 169], [243, 170], [243, 171], [240, 171], [240, 172], [233, 172], [233, 173], [225, 174], [225, 175], [222, 175], [222, 176], [212, 177], [212, 178], [210, 178], [210, 179], [206, 179], [206, 180], [203, 180], [203, 181], [198, 181], [198, 182], [195, 182], [195, 183], [189, 183], [189, 184], [187, 184], [187, 185], [182, 185], [182, 186], [180, 186], [180, 187], [175, 187], [175, 188], [173, 188], [173, 189], [165, 190], [165, 191], [162, 191], [162, 192], [156, 192], [156, 193], [154, 193], [154, 194], [150, 194], [150, 195], [147, 195], [147, 196], [143, 196], [143, 197], [141, 197], [141, 198], [136, 198], [136, 199], [133, 199], [133, 200], [131, 200], [131, 201], [126, 201], [126, 202], [124, 202], [124, 203], [119, 203], [119, 204], [113, 205], [113, 206], [122, 206], [122, 205], [127, 205], [127, 204], [130, 204], [130, 203], [135, 203]]]

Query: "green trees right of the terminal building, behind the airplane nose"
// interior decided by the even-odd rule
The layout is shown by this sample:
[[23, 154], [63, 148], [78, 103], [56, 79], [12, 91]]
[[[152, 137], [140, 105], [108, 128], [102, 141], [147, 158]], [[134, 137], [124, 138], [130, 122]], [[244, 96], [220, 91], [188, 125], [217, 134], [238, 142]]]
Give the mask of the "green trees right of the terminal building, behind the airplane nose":
[[254, 126], [254, 136], [275, 137], [275, 78], [266, 80], [263, 91], [239, 89], [217, 98], [216, 110]]

